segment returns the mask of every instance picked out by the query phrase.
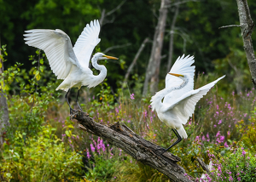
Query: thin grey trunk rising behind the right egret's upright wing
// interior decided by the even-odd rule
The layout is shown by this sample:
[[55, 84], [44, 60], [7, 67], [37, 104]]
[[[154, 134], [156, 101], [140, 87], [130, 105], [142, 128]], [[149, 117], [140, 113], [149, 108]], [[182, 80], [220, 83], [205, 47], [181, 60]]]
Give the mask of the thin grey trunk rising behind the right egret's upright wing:
[[174, 29], [175, 29], [175, 23], [177, 20], [177, 14], [178, 14], [178, 9], [179, 9], [179, 3], [176, 6], [174, 16], [172, 18], [172, 26], [171, 26], [171, 31], [170, 31], [170, 41], [169, 41], [169, 56], [168, 56], [168, 63], [167, 63], [167, 68], [166, 72], [169, 72], [171, 70], [172, 66], [172, 55], [173, 55], [173, 37], [174, 37]]

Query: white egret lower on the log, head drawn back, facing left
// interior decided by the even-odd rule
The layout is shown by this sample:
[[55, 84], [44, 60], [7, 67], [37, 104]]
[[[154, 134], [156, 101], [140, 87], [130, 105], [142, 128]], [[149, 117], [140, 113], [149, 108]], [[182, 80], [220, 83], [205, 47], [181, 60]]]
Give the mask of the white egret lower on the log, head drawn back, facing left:
[[195, 105], [203, 95], [206, 95], [220, 79], [225, 77], [219, 77], [194, 90], [195, 65], [192, 65], [194, 62], [194, 56], [178, 57], [171, 71], [166, 75], [166, 88], [154, 94], [150, 100], [152, 110], [157, 112], [160, 121], [172, 128], [177, 136], [177, 141], [162, 153], [188, 137], [183, 124], [186, 124], [189, 117], [192, 117]]

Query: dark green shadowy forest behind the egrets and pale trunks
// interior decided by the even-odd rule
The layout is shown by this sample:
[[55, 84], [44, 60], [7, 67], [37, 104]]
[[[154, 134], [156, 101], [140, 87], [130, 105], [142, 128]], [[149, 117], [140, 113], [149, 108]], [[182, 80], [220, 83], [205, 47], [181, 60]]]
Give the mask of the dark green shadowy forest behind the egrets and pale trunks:
[[[173, 16], [177, 9], [177, 20], [171, 30]], [[256, 17], [256, 3], [248, 1], [252, 18]], [[143, 40], [148, 37], [153, 41], [160, 9], [160, 0], [107, 1], [107, 0], [32, 0], [0, 1], [0, 37], [2, 45], [7, 44], [9, 53], [5, 67], [24, 63], [29, 69], [31, 64], [28, 56], [34, 54], [35, 48], [24, 43], [23, 34], [28, 29], [61, 29], [76, 42], [84, 26], [90, 20], [101, 19], [101, 43], [96, 50], [110, 48], [108, 54], [119, 57], [120, 61], [109, 62], [108, 82], [113, 88], [120, 87], [125, 73]], [[108, 15], [108, 13], [111, 13]], [[216, 72], [228, 75], [228, 79], [242, 81], [248, 75], [245, 54], [242, 53], [241, 31], [239, 27], [218, 29], [220, 26], [238, 25], [236, 1], [234, 0], [202, 0], [202, 1], [171, 1], [168, 4], [166, 30], [160, 62], [160, 80], [166, 77], [166, 65], [169, 55], [171, 32], [173, 35], [173, 61], [182, 54], [195, 55], [197, 72]], [[253, 34], [253, 44], [256, 35]], [[113, 48], [113, 49], [111, 49]], [[152, 42], [140, 54], [132, 75], [143, 78], [151, 53]], [[229, 61], [227, 59], [229, 58]], [[236, 74], [232, 65], [241, 69]], [[246, 74], [246, 75], [244, 75]], [[242, 76], [241, 76], [242, 75]], [[133, 79], [132, 77], [129, 79]], [[241, 88], [232, 87], [241, 90]]]

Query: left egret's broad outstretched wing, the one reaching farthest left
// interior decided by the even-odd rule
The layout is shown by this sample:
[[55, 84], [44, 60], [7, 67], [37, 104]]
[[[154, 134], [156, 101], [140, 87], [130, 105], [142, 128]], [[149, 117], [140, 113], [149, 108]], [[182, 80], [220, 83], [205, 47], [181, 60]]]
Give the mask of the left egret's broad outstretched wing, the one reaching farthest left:
[[35, 29], [25, 31], [26, 44], [44, 50], [51, 70], [58, 79], [65, 79], [72, 65], [79, 65], [70, 38], [64, 31]]

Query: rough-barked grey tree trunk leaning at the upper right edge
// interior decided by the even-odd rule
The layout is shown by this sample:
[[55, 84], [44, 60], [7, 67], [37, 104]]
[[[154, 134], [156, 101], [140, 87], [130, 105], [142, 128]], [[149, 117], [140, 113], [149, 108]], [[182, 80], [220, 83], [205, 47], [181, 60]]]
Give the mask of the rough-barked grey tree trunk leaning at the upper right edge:
[[256, 59], [253, 51], [253, 43], [251, 37], [254, 24], [251, 18], [247, 0], [236, 0], [236, 3], [238, 7], [243, 48], [247, 54], [247, 63], [251, 71], [253, 87], [256, 89]]

